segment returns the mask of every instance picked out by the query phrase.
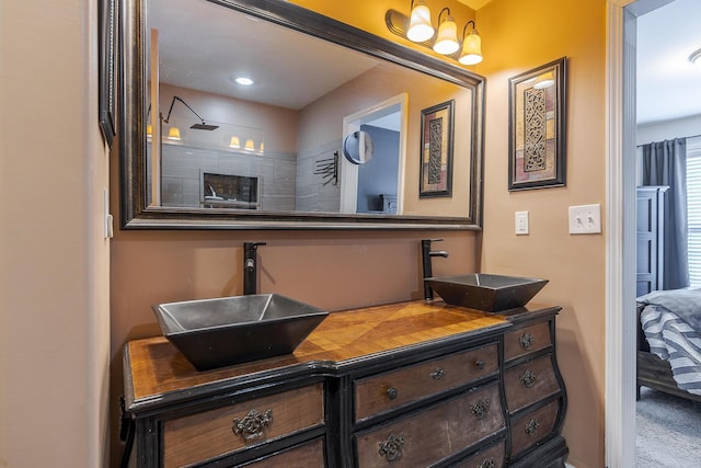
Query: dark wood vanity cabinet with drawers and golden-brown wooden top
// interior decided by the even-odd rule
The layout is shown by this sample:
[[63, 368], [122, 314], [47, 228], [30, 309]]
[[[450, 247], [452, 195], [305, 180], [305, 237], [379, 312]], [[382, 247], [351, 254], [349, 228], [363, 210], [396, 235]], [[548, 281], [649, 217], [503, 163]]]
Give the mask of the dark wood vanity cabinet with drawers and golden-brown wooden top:
[[162, 338], [130, 342], [137, 466], [563, 466], [558, 311], [336, 312], [294, 355], [209, 372]]

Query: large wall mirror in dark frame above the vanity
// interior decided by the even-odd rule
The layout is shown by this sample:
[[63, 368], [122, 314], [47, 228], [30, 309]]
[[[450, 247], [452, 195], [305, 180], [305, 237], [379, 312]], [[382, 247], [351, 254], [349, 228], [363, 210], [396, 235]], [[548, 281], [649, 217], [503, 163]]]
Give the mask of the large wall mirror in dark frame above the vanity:
[[124, 228], [480, 227], [482, 77], [285, 1], [120, 23]]

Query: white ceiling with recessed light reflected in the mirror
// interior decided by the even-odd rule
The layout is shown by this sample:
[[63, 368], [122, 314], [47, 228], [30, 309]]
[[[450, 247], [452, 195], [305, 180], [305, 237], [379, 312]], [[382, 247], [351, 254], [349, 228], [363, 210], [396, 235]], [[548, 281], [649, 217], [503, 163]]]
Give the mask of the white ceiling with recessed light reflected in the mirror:
[[[365, 54], [266, 21], [222, 14], [225, 7], [206, 0], [150, 0], [148, 8], [149, 26], [159, 30], [162, 83], [298, 111], [378, 64]], [[306, 42], [295, 48], [304, 54], [286, 47], [287, 39], [269, 39], [271, 27], [274, 37], [285, 34], [290, 42]], [[337, 62], [343, 67], [334, 66]], [[235, 84], [233, 79], [241, 75], [255, 84]], [[285, 87], [279, 85], [280, 77], [289, 78]]]

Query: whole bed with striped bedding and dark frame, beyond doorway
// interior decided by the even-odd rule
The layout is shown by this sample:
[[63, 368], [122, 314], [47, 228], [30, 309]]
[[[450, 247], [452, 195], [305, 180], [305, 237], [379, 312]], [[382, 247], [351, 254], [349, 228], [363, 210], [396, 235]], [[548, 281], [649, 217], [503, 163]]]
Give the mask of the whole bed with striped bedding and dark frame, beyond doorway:
[[701, 288], [636, 299], [637, 398], [648, 387], [701, 401]]

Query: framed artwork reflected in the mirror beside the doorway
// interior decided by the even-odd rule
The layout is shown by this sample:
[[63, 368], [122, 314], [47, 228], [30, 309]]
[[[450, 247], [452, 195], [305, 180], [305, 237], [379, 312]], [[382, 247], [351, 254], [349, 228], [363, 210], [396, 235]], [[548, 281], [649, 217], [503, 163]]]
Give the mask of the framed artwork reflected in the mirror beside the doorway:
[[452, 195], [452, 127], [455, 100], [421, 112], [418, 196]]

